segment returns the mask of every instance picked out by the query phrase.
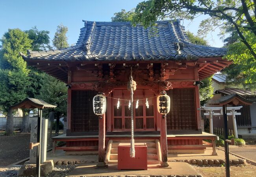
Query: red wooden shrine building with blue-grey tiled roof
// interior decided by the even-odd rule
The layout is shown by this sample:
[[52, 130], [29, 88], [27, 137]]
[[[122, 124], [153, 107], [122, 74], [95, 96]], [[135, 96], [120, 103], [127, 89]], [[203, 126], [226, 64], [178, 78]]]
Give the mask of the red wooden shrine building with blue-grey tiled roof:
[[[225, 48], [192, 44], [179, 20], [157, 22], [157, 34], [130, 22], [84, 21], [75, 46], [22, 54], [29, 66], [67, 83], [67, 154], [93, 151], [99, 162], [117, 162], [117, 145], [130, 142], [130, 91], [134, 91], [134, 139], [147, 143], [148, 164], [167, 162], [168, 153], [203, 153], [215, 135], [202, 132], [200, 80], [232, 62]], [[166, 91], [170, 112], [161, 116], [157, 96]], [[93, 97], [106, 96], [106, 113], [94, 114]], [[212, 140], [213, 144], [203, 139]], [[105, 144], [107, 146], [105, 146]]]

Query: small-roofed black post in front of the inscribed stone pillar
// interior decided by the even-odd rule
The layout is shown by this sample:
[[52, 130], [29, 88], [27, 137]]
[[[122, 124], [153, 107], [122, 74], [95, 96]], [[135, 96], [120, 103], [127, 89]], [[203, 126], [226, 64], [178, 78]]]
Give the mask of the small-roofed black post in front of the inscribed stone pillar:
[[37, 146], [37, 163], [36, 163], [36, 175], [40, 177], [40, 161], [41, 161], [41, 122], [42, 122], [42, 109], [44, 108], [55, 108], [55, 105], [51, 105], [46, 103], [43, 100], [35, 99], [35, 98], [26, 98], [16, 105], [12, 105], [9, 109], [14, 110], [18, 108], [26, 108], [26, 109], [36, 109], [38, 108], [38, 116], [37, 116], [37, 143], [30, 143], [30, 149], [33, 149], [34, 146]]

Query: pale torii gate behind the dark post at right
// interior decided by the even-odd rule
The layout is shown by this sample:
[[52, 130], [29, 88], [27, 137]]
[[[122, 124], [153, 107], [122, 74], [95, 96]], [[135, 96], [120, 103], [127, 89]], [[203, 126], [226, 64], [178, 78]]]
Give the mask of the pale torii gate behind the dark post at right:
[[[227, 116], [232, 116], [233, 119], [233, 129], [234, 129], [234, 136], [235, 138], [238, 138], [237, 134], [237, 125], [236, 125], [236, 115], [241, 115], [241, 112], [236, 112], [236, 110], [241, 109], [243, 106], [236, 106], [236, 107], [226, 107]], [[223, 107], [201, 107], [205, 111], [208, 111], [204, 113], [205, 116], [210, 116], [209, 122], [210, 122], [210, 133], [213, 134], [213, 116], [223, 116]], [[220, 112], [214, 112], [214, 111], [220, 111]]]

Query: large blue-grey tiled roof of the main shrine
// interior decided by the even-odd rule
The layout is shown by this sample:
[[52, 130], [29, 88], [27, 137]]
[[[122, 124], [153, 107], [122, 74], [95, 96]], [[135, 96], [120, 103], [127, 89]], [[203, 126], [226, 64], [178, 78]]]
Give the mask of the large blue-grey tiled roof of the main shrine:
[[53, 61], [190, 60], [222, 57], [225, 48], [191, 44], [180, 21], [157, 22], [157, 34], [130, 22], [89, 22], [75, 46], [61, 50], [28, 51], [24, 59]]

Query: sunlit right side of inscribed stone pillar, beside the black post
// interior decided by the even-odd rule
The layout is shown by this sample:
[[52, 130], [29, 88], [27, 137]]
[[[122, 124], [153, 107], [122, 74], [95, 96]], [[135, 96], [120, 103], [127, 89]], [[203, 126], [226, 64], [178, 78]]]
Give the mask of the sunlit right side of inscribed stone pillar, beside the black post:
[[47, 134], [48, 133], [48, 119], [42, 120], [42, 131], [41, 131], [41, 163], [46, 161], [47, 152]]

